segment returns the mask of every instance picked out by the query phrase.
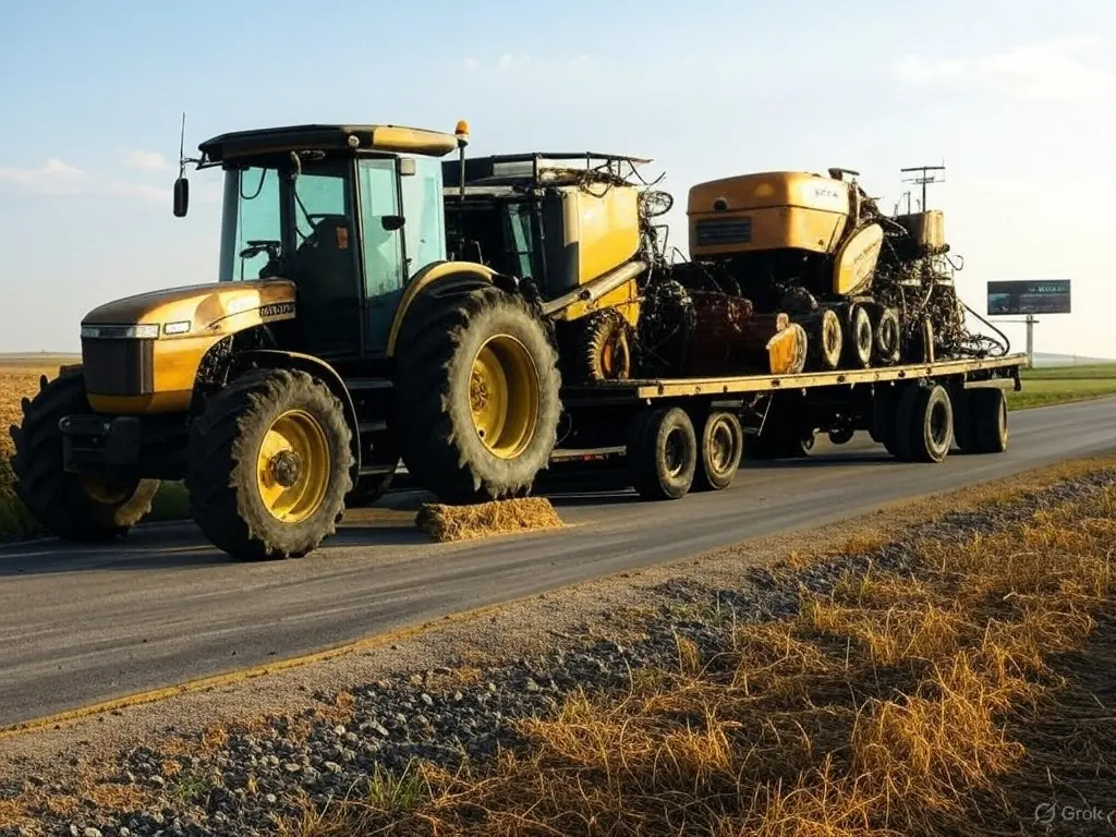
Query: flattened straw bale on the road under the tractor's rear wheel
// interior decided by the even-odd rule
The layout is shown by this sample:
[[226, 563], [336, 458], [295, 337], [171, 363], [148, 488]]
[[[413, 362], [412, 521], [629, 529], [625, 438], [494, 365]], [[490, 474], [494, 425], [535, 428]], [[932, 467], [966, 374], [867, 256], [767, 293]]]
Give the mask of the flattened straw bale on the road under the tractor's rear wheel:
[[436, 541], [450, 541], [559, 529], [565, 523], [549, 500], [527, 497], [474, 506], [423, 503], [415, 514], [415, 526]]

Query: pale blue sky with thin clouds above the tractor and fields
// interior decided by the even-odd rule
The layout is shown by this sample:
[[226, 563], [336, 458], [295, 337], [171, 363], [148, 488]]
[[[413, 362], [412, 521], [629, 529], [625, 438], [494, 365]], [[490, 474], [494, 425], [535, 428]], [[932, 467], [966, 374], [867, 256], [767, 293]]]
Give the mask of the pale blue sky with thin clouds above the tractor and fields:
[[[931, 204], [984, 282], [1068, 278], [1037, 348], [1116, 357], [1116, 3], [0, 0], [0, 350], [76, 350], [102, 301], [215, 280], [220, 174], [171, 214], [189, 148], [305, 122], [472, 126], [472, 153], [655, 157], [684, 250], [690, 185], [941, 163]], [[1107, 311], [1106, 311], [1107, 309]], [[1022, 348], [1021, 326], [1006, 327]]]

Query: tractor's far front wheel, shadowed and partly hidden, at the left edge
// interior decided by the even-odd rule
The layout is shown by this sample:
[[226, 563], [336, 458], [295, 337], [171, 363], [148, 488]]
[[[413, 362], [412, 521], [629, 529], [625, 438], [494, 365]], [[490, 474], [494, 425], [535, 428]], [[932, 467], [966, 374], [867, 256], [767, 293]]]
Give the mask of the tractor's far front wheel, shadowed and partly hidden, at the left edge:
[[23, 398], [23, 422], [10, 427], [13, 490], [31, 516], [64, 540], [106, 541], [138, 523], [150, 511], [158, 480], [123, 480], [69, 473], [62, 469], [58, 421], [92, 412], [80, 367], [54, 381], [39, 378], [39, 393]]

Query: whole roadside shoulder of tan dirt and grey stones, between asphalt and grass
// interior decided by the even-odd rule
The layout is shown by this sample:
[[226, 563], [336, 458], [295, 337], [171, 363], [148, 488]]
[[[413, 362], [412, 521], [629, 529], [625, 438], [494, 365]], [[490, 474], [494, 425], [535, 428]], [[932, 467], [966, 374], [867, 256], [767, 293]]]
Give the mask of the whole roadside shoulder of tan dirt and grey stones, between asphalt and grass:
[[[376, 767], [453, 767], [514, 745], [511, 719], [579, 686], [623, 689], [725, 619], [793, 614], [843, 573], [902, 573], [905, 545], [990, 531], [1116, 482], [1116, 455], [897, 503], [378, 637], [250, 680], [0, 739], [0, 835], [273, 833], [306, 795]], [[810, 556], [809, 561], [801, 560]]]

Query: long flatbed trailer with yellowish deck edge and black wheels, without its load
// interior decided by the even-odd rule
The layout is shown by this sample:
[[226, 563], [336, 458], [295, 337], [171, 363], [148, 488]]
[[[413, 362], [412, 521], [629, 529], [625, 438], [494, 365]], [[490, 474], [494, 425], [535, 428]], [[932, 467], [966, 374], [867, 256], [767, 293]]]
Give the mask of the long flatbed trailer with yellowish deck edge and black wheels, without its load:
[[1006, 389], [1022, 354], [795, 375], [603, 381], [562, 389], [551, 472], [623, 458], [645, 499], [728, 488], [744, 458], [809, 453], [818, 432], [843, 444], [867, 431], [906, 462], [1008, 446]]

